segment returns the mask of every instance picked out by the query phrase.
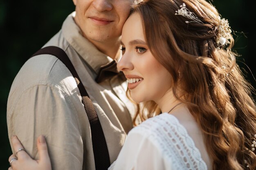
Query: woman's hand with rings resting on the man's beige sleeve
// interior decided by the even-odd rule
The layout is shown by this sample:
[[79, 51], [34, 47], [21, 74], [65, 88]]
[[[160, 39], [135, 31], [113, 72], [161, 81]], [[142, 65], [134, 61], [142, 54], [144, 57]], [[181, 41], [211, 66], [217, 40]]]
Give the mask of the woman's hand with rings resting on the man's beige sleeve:
[[45, 137], [37, 138], [39, 160], [32, 159], [24, 150], [17, 136], [11, 139], [16, 154], [9, 157], [11, 167], [8, 170], [52, 170]]

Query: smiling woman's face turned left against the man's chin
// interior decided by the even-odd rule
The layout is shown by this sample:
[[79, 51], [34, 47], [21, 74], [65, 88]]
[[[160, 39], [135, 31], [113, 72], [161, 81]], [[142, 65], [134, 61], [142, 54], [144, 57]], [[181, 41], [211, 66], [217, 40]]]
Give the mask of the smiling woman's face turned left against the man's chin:
[[125, 22], [121, 44], [123, 56], [117, 68], [129, 81], [132, 99], [135, 102], [161, 99], [171, 88], [171, 75], [148, 49], [139, 13], [133, 13]]

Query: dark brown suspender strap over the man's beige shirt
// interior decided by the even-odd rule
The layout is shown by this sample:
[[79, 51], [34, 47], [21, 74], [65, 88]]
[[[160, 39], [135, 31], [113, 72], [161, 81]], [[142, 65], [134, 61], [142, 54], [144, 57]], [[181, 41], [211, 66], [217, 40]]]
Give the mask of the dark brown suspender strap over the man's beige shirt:
[[40, 54], [50, 54], [57, 57], [60, 61], [62, 61], [68, 70], [70, 70], [71, 74], [73, 75], [77, 87], [80, 91], [82, 96], [82, 103], [85, 108], [85, 112], [88, 116], [90, 127], [91, 127], [91, 134], [92, 134], [92, 148], [94, 154], [94, 163], [96, 170], [107, 170], [110, 166], [110, 159], [108, 154], [108, 146], [106, 143], [106, 139], [101, 127], [101, 123], [99, 122], [99, 118], [97, 113], [94, 109], [92, 104], [92, 100], [90, 99], [88, 93], [83, 86], [82, 81], [80, 80], [73, 64], [71, 63], [70, 59], [67, 57], [67, 54], [61, 48], [56, 46], [48, 46], [38, 50], [32, 57]]

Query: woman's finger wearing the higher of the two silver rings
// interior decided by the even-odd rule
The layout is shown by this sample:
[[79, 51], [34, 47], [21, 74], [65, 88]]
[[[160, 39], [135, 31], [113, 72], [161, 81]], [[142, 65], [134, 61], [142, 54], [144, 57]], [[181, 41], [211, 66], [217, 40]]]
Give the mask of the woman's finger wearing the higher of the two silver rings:
[[18, 139], [18, 137], [16, 135], [14, 135], [11, 138], [11, 142], [13, 144], [13, 149], [15, 150], [16, 157], [18, 159], [26, 159], [29, 157], [29, 155], [27, 155], [27, 152], [23, 148], [22, 144], [20, 143], [20, 140]]

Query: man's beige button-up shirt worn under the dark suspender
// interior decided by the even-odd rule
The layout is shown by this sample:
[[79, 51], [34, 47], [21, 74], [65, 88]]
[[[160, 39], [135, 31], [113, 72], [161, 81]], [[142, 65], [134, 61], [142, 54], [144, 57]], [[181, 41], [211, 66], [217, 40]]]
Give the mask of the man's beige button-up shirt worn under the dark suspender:
[[[113, 60], [81, 35], [74, 15], [67, 17], [45, 46], [58, 46], [69, 56], [97, 111], [112, 163], [132, 129], [134, 105], [126, 97], [127, 81], [122, 74], [99, 84], [94, 81], [100, 67]], [[79, 89], [56, 57], [32, 57], [22, 66], [11, 86], [7, 125], [9, 139], [17, 135], [36, 159], [36, 138], [43, 134], [53, 170], [95, 169], [90, 125]]]

